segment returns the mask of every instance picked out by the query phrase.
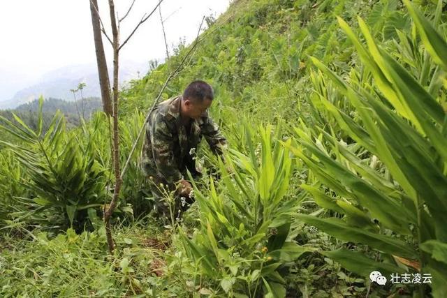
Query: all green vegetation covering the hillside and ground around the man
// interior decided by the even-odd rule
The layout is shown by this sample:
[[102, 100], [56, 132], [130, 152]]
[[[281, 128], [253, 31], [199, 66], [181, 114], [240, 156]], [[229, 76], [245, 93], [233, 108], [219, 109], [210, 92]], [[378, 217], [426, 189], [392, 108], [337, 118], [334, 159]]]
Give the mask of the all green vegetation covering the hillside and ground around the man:
[[[2, 117], [1, 297], [444, 297], [445, 9], [240, 0], [207, 20], [163, 98], [210, 82], [230, 150], [225, 161], [198, 151], [196, 203], [165, 227], [135, 153], [114, 255], [101, 221], [114, 179], [107, 117], [67, 130], [57, 112], [44, 129], [46, 103], [32, 124]], [[122, 163], [187, 50], [123, 91]]]

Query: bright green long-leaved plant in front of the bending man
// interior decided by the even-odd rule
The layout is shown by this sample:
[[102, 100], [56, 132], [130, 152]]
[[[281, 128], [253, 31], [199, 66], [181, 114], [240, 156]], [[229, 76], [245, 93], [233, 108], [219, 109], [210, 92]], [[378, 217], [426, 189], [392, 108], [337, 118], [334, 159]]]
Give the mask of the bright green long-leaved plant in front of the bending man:
[[[210, 189], [194, 195], [200, 206], [200, 230], [182, 243], [198, 267], [197, 278], [219, 281], [217, 293], [236, 297], [284, 297], [279, 268], [312, 251], [288, 239], [299, 198], [284, 200], [293, 170], [289, 150], [272, 137], [272, 126], [259, 131], [244, 127], [248, 155], [231, 151], [226, 165], [219, 162], [221, 180], [210, 178]], [[291, 143], [291, 140], [287, 142]], [[227, 170], [230, 168], [230, 173]], [[197, 283], [199, 281], [196, 281]]]

